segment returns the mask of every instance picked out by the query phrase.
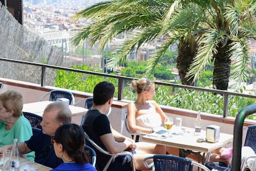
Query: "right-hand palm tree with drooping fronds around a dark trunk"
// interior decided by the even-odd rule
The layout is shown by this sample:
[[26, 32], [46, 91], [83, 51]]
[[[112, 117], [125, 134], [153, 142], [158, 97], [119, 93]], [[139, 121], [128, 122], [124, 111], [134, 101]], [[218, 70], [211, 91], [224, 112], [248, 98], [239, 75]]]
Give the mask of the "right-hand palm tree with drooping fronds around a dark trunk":
[[213, 86], [227, 90], [230, 73], [236, 83], [245, 80], [250, 62], [247, 41], [256, 36], [256, 3], [248, 0], [209, 2], [210, 6], [205, 9], [208, 20], [202, 25], [205, 31], [198, 41], [199, 49], [187, 77], [197, 80], [205, 66], [213, 61]]

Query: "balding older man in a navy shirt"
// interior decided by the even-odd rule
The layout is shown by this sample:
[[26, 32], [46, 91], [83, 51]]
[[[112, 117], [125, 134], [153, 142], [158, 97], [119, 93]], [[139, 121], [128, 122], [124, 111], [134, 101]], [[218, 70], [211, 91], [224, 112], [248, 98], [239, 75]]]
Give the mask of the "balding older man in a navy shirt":
[[[55, 153], [51, 136], [63, 123], [70, 123], [72, 118], [71, 111], [64, 102], [53, 102], [49, 104], [43, 112], [43, 120], [40, 123], [42, 131], [34, 134], [30, 140], [19, 143], [20, 154], [27, 154], [35, 151], [35, 162], [46, 165], [51, 168], [57, 167], [63, 161]], [[11, 149], [12, 145], [3, 146], [3, 149]]]

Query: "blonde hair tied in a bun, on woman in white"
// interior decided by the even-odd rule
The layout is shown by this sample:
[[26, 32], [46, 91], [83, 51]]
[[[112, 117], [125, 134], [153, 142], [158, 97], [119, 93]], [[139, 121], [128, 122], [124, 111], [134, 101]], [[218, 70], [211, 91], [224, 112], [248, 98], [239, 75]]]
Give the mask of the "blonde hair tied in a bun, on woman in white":
[[130, 86], [134, 88], [137, 94], [142, 93], [142, 91], [150, 91], [154, 82], [149, 80], [148, 78], [140, 78], [139, 80], [132, 80]]

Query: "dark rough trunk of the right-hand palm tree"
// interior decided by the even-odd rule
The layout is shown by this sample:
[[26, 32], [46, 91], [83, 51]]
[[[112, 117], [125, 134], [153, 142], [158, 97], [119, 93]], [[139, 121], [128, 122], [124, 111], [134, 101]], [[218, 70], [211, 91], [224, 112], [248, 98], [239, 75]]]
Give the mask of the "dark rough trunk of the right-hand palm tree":
[[226, 46], [223, 48], [218, 48], [218, 53], [213, 56], [215, 58], [213, 69], [213, 87], [218, 90], [228, 90], [231, 69], [231, 59], [228, 52], [230, 43], [231, 41], [228, 41]]

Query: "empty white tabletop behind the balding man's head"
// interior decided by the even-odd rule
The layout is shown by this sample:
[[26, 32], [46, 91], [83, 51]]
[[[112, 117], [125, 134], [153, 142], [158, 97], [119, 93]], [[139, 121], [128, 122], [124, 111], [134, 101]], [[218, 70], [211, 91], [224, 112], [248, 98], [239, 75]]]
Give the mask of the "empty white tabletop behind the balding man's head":
[[[45, 107], [51, 102], [53, 101], [38, 101], [38, 102], [26, 103], [26, 104], [23, 104], [22, 111], [43, 116], [43, 111], [45, 110]], [[84, 107], [78, 107], [78, 106], [72, 106], [72, 105], [69, 105], [69, 109], [72, 112], [72, 116], [83, 115], [88, 111], [88, 109], [85, 109]]]

